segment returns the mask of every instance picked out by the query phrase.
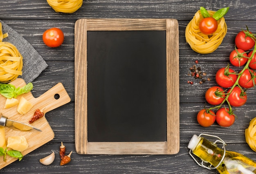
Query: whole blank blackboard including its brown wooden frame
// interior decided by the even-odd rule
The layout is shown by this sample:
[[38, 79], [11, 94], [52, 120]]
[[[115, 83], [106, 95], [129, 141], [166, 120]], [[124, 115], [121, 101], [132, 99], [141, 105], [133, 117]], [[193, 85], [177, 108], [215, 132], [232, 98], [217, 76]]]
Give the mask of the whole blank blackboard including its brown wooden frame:
[[177, 20], [76, 21], [76, 152], [177, 153], [178, 59]]

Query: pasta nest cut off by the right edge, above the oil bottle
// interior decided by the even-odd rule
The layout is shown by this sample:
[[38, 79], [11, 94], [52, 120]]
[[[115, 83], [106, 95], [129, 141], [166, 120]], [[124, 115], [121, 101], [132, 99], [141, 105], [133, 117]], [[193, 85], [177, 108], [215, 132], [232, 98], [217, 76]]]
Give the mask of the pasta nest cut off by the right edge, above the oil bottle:
[[248, 128], [245, 129], [245, 141], [256, 152], [256, 117], [250, 121]]

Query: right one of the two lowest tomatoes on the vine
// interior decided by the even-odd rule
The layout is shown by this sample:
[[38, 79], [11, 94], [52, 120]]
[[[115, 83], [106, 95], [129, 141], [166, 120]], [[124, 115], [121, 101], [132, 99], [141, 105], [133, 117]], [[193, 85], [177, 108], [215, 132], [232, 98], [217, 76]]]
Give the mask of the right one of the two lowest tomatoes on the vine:
[[216, 122], [222, 127], [229, 127], [235, 122], [235, 116], [229, 114], [228, 108], [220, 108], [216, 112]]

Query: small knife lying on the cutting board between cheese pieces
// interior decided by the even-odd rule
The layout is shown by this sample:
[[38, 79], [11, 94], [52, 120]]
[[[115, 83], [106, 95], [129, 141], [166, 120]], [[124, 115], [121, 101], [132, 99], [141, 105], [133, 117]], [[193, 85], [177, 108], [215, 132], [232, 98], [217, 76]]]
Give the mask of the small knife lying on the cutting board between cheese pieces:
[[4, 126], [4, 127], [7, 126], [8, 128], [11, 128], [13, 130], [18, 130], [18, 131], [42, 132], [42, 130], [38, 128], [35, 128], [25, 123], [21, 123], [19, 121], [10, 120], [4, 116], [0, 117], [0, 126]]

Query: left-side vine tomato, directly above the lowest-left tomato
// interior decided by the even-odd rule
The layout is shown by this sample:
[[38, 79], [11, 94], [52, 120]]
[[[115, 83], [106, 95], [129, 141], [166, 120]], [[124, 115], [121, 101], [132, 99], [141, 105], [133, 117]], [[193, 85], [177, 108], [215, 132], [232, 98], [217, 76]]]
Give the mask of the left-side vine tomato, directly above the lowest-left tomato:
[[225, 95], [222, 95], [222, 93], [222, 88], [213, 86], [206, 91], [205, 99], [211, 105], [219, 105], [225, 99]]

